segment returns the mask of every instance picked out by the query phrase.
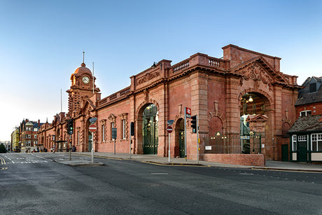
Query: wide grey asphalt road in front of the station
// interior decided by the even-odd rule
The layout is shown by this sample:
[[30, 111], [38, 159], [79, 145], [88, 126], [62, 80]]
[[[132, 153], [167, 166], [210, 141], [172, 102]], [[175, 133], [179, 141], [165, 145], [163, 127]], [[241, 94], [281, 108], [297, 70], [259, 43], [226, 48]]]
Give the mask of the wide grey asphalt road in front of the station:
[[322, 214], [322, 173], [59, 159], [0, 154], [0, 214]]

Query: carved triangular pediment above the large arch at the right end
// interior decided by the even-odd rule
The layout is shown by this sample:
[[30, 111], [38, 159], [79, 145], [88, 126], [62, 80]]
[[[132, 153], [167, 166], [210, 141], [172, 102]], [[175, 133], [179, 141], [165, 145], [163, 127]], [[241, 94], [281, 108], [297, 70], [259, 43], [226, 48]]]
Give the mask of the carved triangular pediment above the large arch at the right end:
[[269, 90], [273, 83], [283, 83], [289, 85], [289, 81], [279, 71], [275, 71], [270, 64], [262, 57], [255, 57], [244, 64], [232, 69], [235, 74], [241, 75], [240, 85], [244, 81], [259, 81], [269, 85]]

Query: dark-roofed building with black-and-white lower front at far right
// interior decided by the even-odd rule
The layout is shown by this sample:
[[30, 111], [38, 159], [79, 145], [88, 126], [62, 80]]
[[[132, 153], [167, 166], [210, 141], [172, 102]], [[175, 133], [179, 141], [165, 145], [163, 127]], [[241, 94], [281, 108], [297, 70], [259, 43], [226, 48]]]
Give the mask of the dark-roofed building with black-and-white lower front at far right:
[[322, 88], [321, 77], [307, 78], [295, 102], [297, 120], [290, 134], [289, 160], [322, 162]]

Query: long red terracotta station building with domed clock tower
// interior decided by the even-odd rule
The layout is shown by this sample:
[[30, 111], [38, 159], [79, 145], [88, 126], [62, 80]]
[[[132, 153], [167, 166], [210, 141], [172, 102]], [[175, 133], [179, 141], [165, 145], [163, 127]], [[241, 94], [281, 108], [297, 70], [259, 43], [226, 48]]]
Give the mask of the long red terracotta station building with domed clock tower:
[[[55, 137], [61, 148], [66, 147], [66, 120], [72, 118], [72, 144], [77, 151], [90, 151], [92, 133], [88, 127], [90, 118], [97, 118], [94, 151], [114, 151], [111, 133], [116, 128], [116, 153], [128, 153], [130, 122], [134, 122], [133, 153], [167, 156], [167, 120], [174, 120], [171, 156], [186, 153], [188, 159], [196, 159], [197, 134], [192, 132], [190, 120], [184, 120], [188, 107], [199, 117], [200, 159], [246, 164], [263, 160], [265, 155], [269, 160], [281, 160], [281, 146], [289, 142], [282, 138], [283, 133], [296, 119], [294, 104], [300, 87], [297, 76], [281, 73], [280, 60], [229, 45], [223, 47], [222, 58], [197, 53], [174, 65], [161, 60], [130, 77], [129, 87], [105, 98], [94, 85], [90, 69], [82, 64], [71, 74], [69, 112], [45, 123], [39, 141], [50, 148]], [[260, 137], [256, 150], [252, 149], [253, 133]], [[226, 141], [233, 135], [237, 144]], [[217, 145], [212, 141], [218, 137], [222, 139], [219, 145], [234, 151], [216, 153]]]

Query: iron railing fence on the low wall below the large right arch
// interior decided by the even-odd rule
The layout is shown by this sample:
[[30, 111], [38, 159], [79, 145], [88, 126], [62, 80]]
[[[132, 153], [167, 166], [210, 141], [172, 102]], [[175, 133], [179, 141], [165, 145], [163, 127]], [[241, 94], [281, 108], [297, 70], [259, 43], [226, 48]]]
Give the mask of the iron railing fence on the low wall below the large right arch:
[[204, 138], [204, 153], [261, 153], [262, 134], [217, 134], [216, 137]]

